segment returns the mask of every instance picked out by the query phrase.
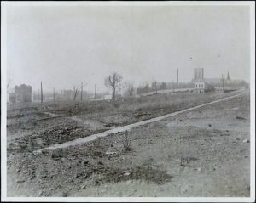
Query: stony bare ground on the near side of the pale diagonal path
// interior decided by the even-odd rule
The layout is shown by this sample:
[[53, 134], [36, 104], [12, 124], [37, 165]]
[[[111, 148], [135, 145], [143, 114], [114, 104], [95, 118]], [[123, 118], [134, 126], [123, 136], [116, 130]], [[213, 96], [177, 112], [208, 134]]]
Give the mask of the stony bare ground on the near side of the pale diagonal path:
[[244, 95], [88, 144], [9, 151], [8, 195], [248, 196], [249, 133]]

